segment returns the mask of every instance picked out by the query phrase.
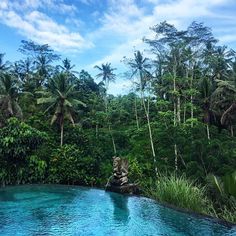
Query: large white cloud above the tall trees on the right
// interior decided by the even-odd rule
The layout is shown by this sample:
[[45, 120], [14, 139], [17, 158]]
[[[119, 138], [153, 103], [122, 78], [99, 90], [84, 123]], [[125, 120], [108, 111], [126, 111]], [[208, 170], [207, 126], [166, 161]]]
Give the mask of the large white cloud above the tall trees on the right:
[[227, 19], [229, 16], [218, 16], [214, 13], [213, 8], [232, 2], [232, 0], [146, 1], [154, 5], [149, 14], [146, 13], [145, 4], [143, 4], [144, 7], [138, 7], [137, 1], [134, 0], [109, 1], [110, 7], [108, 12], [101, 19], [102, 27], [92, 35], [95, 38], [103, 38], [109, 32], [112, 38], [122, 36], [123, 42], [119, 43], [114, 50], [111, 50], [110, 54], [97, 60], [95, 63], [109, 61], [117, 64], [124, 55], [132, 57], [134, 46], [136, 49], [141, 50], [145, 48], [140, 43], [142, 37], [150, 38], [153, 36], [149, 27], [163, 20], [167, 20], [176, 27], [184, 28], [193, 20], [199, 21], [202, 17], [209, 19], [221, 18], [221, 20]]

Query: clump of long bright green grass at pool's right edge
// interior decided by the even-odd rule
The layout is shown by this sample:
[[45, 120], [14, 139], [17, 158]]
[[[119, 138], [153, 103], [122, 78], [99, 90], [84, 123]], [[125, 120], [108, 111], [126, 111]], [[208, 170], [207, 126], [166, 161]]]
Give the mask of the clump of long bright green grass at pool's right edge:
[[146, 194], [162, 203], [197, 213], [209, 214], [212, 208], [205, 188], [195, 185], [185, 176], [160, 176], [158, 181], [147, 189]]

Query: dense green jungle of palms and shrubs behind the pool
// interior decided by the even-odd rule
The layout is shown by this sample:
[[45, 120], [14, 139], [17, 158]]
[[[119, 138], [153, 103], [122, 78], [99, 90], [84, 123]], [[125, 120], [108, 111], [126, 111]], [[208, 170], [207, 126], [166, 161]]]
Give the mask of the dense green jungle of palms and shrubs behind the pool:
[[96, 83], [48, 45], [22, 41], [12, 63], [0, 54], [1, 185], [104, 186], [119, 155], [147, 194], [236, 221], [236, 53], [196, 22], [152, 30], [152, 59], [124, 57], [123, 96], [107, 93], [110, 63]]

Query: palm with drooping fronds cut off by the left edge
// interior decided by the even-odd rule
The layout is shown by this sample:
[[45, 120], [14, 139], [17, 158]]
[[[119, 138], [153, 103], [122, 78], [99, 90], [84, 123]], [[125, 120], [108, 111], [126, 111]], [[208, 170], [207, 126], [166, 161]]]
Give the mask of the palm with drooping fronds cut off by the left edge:
[[18, 104], [17, 80], [8, 73], [0, 75], [0, 108], [4, 117], [22, 118], [22, 110]]

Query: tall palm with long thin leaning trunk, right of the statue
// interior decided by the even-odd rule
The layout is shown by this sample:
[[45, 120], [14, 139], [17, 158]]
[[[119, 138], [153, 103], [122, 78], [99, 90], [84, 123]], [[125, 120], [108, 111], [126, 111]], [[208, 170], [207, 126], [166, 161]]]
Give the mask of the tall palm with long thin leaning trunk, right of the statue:
[[149, 79], [152, 77], [150, 72], [148, 71], [151, 68], [148, 58], [144, 58], [140, 51], [134, 53], [134, 59], [128, 61], [128, 65], [132, 69], [132, 76], [137, 75], [139, 78], [138, 89], [140, 90], [141, 95], [141, 102], [144, 108], [144, 112], [147, 119], [148, 131], [149, 131], [149, 138], [150, 144], [152, 149], [153, 155], [153, 162], [155, 166], [155, 172], [157, 174], [157, 167], [156, 167], [156, 152], [153, 143], [153, 135], [152, 135], [152, 128], [150, 124], [150, 116], [149, 116], [149, 98], [148, 104], [146, 105], [144, 91], [146, 88]]

